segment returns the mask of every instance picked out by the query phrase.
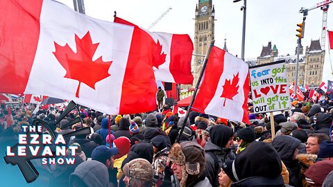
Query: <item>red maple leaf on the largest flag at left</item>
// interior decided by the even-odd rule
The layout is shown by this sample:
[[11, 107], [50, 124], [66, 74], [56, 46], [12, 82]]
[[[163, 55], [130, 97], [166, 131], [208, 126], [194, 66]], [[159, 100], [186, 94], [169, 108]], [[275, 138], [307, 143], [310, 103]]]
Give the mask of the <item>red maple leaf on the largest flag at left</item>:
[[92, 44], [89, 31], [82, 39], [80, 39], [78, 35], [75, 35], [75, 42], [76, 53], [71, 50], [68, 44], [60, 46], [54, 42], [56, 52], [53, 52], [53, 54], [66, 70], [65, 78], [78, 80], [78, 89], [76, 89], [76, 98], [78, 98], [80, 83], [83, 82], [92, 89], [95, 89], [96, 82], [110, 76], [108, 69], [112, 61], [103, 62], [102, 57], [92, 61], [92, 57], [99, 43]]

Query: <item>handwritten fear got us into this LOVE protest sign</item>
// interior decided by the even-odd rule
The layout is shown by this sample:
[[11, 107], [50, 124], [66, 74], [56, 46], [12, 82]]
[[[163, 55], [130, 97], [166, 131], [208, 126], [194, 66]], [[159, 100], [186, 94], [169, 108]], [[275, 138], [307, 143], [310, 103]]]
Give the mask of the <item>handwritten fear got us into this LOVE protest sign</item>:
[[252, 66], [249, 71], [255, 114], [290, 108], [284, 61]]

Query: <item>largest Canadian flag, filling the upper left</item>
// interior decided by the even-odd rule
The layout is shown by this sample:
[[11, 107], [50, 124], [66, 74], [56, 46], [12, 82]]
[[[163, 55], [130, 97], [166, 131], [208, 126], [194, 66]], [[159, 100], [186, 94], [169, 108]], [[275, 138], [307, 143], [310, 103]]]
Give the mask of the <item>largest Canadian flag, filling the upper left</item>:
[[57, 1], [0, 6], [0, 92], [74, 100], [108, 114], [156, 108], [156, 44], [143, 30]]

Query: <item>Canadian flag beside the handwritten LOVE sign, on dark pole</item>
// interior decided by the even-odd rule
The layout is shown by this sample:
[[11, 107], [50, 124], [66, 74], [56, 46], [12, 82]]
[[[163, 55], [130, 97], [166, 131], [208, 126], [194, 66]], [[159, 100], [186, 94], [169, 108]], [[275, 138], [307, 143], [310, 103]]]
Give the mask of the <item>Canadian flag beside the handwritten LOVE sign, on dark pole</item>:
[[248, 123], [249, 91], [248, 64], [213, 46], [192, 109]]

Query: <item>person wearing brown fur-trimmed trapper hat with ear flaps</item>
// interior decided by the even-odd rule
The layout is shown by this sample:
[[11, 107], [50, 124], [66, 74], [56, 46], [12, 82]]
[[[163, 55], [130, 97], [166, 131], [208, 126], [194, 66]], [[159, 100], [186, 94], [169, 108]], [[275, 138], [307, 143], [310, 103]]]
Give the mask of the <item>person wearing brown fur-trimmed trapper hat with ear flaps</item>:
[[169, 160], [174, 175], [171, 184], [181, 187], [210, 187], [210, 181], [203, 175], [205, 170], [205, 150], [193, 141], [172, 145]]

